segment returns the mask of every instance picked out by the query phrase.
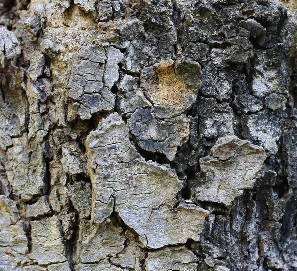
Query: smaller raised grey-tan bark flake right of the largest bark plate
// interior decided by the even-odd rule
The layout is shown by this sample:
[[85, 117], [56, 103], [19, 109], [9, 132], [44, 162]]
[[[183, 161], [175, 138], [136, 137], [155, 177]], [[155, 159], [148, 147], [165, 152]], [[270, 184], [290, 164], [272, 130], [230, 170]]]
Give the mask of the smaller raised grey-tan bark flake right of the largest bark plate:
[[263, 148], [235, 136], [221, 137], [210, 155], [200, 159], [201, 171], [193, 184], [193, 197], [231, 206], [244, 189], [251, 189], [263, 177]]

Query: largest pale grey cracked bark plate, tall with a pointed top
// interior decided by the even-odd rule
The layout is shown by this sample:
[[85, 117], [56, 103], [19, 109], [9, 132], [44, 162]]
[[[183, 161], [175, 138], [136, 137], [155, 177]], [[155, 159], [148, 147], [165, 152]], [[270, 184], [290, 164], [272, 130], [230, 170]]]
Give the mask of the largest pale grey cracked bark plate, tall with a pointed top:
[[128, 133], [115, 113], [87, 137], [93, 186], [91, 219], [101, 224], [116, 212], [148, 248], [199, 241], [208, 212], [178, 204], [176, 195], [183, 185], [175, 172], [139, 157]]

